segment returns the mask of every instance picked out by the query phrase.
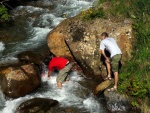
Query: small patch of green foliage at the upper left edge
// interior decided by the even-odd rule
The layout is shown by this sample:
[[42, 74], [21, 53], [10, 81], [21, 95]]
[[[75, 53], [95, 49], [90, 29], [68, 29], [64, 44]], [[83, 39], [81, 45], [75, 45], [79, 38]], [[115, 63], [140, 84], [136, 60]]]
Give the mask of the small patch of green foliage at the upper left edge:
[[8, 9], [5, 6], [0, 5], [0, 21], [8, 19], [9, 19]]

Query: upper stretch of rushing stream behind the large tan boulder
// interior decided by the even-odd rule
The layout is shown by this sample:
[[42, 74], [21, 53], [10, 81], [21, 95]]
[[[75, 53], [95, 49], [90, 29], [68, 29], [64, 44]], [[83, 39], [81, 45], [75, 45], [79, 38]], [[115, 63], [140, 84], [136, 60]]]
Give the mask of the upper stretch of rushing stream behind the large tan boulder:
[[46, 36], [66, 18], [73, 17], [92, 6], [94, 0], [39, 0], [28, 6], [18, 6], [11, 12], [13, 21], [0, 35], [0, 64], [17, 61], [15, 55], [26, 50], [46, 48]]

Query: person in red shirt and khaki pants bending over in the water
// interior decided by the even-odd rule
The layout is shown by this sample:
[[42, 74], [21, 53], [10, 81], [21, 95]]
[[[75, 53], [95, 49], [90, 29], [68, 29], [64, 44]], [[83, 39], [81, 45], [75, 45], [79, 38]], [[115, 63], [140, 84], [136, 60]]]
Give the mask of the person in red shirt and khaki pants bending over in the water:
[[62, 88], [62, 83], [64, 81], [68, 82], [70, 77], [68, 73], [72, 68], [72, 64], [69, 62], [68, 59], [62, 57], [53, 57], [48, 65], [48, 77], [51, 76], [54, 69], [59, 71], [57, 76], [57, 86], [58, 88]]

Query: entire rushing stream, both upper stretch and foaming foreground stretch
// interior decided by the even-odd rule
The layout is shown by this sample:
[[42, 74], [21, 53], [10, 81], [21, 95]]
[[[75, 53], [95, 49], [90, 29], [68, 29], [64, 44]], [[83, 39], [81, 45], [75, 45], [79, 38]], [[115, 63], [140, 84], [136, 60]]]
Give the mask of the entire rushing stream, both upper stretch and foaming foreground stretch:
[[[46, 48], [46, 35], [61, 21], [73, 17], [92, 6], [94, 0], [39, 0], [30, 2], [28, 6], [18, 6], [11, 12], [13, 24], [0, 29], [1, 35], [7, 34], [7, 42], [0, 42], [0, 64], [16, 62], [16, 54], [26, 50], [39, 51]], [[108, 113], [102, 104], [103, 98], [96, 98], [88, 87], [80, 82], [88, 83], [75, 72], [71, 81], [65, 83], [63, 89], [56, 87], [56, 76], [47, 81], [32, 94], [17, 99], [6, 99], [0, 91], [0, 113], [13, 113], [16, 107], [33, 97], [52, 98], [59, 101], [61, 107], [70, 107], [77, 113]], [[90, 82], [89, 82], [90, 84]]]

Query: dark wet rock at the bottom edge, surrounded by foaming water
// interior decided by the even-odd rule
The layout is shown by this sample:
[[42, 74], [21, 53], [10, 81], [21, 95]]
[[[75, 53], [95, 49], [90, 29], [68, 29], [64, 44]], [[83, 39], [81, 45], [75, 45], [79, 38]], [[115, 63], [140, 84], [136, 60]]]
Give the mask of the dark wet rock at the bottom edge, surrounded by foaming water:
[[15, 113], [54, 113], [47, 112], [58, 104], [57, 100], [33, 98], [19, 105]]

